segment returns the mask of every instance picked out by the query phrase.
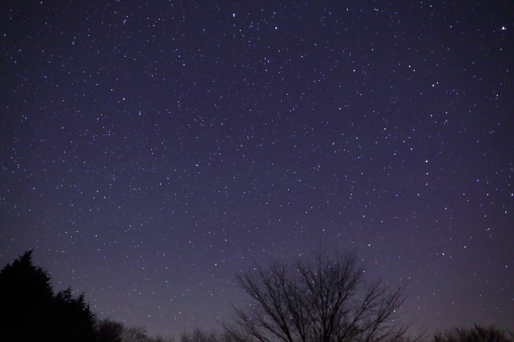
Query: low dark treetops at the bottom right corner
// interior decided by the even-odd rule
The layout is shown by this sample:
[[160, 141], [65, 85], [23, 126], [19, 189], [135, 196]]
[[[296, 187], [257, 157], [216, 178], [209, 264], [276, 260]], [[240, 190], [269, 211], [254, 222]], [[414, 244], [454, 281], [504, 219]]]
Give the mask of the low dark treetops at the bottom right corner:
[[434, 342], [514, 342], [514, 334], [490, 327], [453, 328], [434, 334]]

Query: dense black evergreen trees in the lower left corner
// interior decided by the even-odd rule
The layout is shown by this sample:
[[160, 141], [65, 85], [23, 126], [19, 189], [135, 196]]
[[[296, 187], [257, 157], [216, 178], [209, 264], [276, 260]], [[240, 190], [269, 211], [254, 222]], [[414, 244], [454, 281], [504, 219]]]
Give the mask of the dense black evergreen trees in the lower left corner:
[[53, 293], [46, 271], [25, 252], [0, 271], [0, 340], [93, 341], [95, 316], [71, 289]]

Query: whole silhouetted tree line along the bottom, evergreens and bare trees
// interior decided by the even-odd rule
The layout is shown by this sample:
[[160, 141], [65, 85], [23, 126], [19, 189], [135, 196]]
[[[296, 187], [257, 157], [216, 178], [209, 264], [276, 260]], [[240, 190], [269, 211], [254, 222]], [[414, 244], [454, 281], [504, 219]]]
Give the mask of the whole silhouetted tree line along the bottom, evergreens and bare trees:
[[[410, 335], [398, 319], [405, 287], [364, 278], [355, 252], [319, 248], [293, 261], [256, 262], [236, 273], [248, 294], [221, 332], [195, 329], [180, 342], [514, 342], [495, 327], [453, 328], [432, 336]], [[102, 319], [84, 294], [55, 293], [48, 272], [32, 264], [32, 251], [0, 271], [0, 341], [172, 342], [142, 327]]]

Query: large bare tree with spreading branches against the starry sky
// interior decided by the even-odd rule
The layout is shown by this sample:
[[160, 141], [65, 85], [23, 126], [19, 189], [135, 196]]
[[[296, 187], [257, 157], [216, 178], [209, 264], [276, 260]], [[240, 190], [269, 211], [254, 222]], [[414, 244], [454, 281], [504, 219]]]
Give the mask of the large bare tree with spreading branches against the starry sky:
[[320, 248], [292, 263], [255, 263], [236, 280], [251, 302], [223, 324], [235, 342], [396, 342], [406, 334], [396, 320], [405, 287], [366, 281], [354, 252]]

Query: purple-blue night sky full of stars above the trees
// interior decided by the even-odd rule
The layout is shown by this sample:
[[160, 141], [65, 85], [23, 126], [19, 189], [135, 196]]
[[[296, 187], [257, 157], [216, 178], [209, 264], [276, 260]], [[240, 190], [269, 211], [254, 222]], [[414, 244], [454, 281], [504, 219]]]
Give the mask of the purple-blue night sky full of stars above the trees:
[[2, 1], [0, 263], [149, 333], [324, 241], [514, 329], [514, 3]]

